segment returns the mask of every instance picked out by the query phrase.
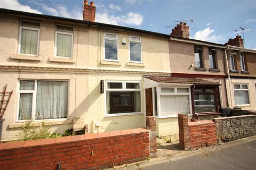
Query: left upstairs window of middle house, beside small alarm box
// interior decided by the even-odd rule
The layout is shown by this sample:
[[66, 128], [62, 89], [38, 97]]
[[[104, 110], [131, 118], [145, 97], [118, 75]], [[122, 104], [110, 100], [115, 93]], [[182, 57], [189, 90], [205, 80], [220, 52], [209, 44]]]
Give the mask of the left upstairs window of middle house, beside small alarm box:
[[106, 61], [119, 61], [118, 58], [118, 35], [115, 33], [104, 34], [104, 48]]

